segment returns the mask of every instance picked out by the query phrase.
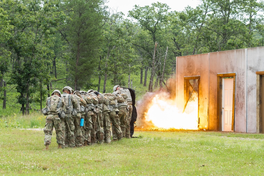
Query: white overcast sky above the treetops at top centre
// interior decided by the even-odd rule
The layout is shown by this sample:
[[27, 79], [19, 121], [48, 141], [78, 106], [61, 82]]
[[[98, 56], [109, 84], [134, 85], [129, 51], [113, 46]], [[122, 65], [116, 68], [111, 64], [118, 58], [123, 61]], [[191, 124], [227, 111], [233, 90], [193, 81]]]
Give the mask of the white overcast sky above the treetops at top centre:
[[109, 0], [106, 5], [112, 9], [117, 9], [118, 12], [123, 12], [127, 16], [128, 11], [132, 10], [135, 4], [143, 7], [146, 5], [151, 6], [153, 2], [166, 3], [171, 8], [169, 11], [183, 11], [187, 6], [195, 8], [200, 4], [200, 0]]

